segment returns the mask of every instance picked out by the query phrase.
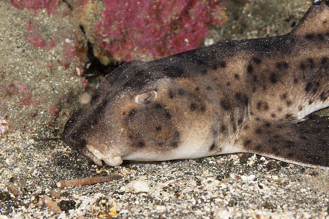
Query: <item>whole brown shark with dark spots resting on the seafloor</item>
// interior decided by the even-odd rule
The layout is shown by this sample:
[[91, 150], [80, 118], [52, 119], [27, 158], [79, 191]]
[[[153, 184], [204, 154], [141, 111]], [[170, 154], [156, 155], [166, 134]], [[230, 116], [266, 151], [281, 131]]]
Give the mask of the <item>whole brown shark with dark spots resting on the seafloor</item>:
[[329, 167], [329, 1], [288, 34], [213, 45], [105, 76], [62, 139], [95, 164], [248, 152]]

